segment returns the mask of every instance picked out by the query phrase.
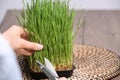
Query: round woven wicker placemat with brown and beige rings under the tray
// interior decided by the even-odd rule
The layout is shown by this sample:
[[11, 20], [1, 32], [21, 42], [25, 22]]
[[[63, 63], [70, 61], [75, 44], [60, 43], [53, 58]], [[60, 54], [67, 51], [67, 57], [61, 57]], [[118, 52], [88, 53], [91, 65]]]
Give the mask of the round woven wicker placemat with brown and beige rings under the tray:
[[[75, 69], [68, 80], [108, 80], [120, 74], [120, 56], [110, 50], [75, 45], [73, 53]], [[23, 61], [20, 65], [24, 70]]]

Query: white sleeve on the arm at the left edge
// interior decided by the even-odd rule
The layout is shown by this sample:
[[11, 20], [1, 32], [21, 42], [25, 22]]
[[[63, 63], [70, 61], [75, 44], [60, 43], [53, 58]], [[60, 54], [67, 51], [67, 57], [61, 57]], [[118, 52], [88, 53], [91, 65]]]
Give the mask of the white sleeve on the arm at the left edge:
[[0, 80], [22, 80], [16, 54], [0, 34]]

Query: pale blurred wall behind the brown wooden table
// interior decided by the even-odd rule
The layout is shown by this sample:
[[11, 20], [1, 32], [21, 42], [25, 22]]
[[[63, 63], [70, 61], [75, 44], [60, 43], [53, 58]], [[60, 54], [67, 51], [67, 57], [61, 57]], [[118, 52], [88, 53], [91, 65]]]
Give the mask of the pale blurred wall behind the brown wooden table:
[[[30, 2], [30, 0], [26, 0]], [[0, 24], [8, 9], [22, 9], [22, 0], [0, 0]], [[71, 0], [70, 8], [85, 10], [120, 10], [120, 0]]]

